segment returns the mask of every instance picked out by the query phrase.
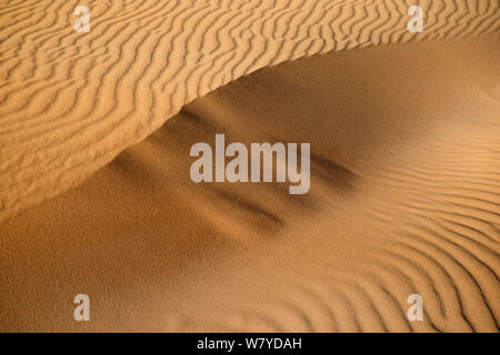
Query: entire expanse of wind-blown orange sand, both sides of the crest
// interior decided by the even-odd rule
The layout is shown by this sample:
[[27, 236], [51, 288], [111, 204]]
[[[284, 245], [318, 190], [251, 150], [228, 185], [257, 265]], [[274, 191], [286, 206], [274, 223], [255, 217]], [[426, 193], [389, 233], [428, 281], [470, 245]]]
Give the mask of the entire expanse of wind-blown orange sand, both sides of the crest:
[[[498, 332], [498, 1], [77, 4], [0, 6], [0, 331]], [[310, 192], [194, 184], [216, 133]]]

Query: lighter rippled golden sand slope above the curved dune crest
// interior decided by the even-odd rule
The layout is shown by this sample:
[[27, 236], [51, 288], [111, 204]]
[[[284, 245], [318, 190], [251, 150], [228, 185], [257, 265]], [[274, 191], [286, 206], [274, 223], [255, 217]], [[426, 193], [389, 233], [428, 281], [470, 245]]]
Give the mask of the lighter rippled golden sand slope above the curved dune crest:
[[[411, 2], [411, 3], [410, 3]], [[259, 68], [381, 43], [497, 33], [494, 1], [80, 1], [0, 7], [0, 219], [81, 182], [193, 99]]]

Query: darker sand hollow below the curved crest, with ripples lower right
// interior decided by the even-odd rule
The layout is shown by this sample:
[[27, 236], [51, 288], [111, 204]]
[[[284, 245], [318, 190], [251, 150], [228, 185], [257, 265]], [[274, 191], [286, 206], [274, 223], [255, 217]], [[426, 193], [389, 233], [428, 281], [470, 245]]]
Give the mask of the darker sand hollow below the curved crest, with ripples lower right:
[[[328, 53], [188, 104], [0, 226], [0, 329], [498, 332], [497, 44]], [[310, 142], [310, 192], [192, 183], [214, 133]]]

